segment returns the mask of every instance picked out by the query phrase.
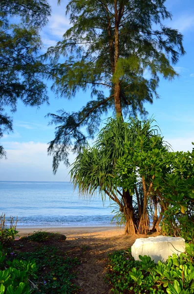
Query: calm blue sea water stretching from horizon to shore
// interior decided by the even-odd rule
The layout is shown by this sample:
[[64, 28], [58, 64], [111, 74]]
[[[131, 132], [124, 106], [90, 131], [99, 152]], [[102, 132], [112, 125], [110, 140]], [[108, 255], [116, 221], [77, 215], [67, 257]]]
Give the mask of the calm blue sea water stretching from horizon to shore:
[[18, 227], [114, 225], [109, 204], [80, 197], [69, 182], [0, 181], [0, 214], [18, 216]]

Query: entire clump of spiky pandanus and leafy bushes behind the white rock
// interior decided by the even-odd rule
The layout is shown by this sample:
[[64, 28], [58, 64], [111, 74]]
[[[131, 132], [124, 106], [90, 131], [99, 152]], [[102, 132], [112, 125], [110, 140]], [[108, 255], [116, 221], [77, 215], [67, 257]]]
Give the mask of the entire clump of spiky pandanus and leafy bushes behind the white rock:
[[81, 194], [113, 200], [126, 234], [147, 234], [150, 221], [159, 231], [163, 219], [165, 233], [176, 236], [194, 224], [194, 150], [170, 151], [153, 123], [109, 119], [94, 146], [78, 154], [71, 179]]

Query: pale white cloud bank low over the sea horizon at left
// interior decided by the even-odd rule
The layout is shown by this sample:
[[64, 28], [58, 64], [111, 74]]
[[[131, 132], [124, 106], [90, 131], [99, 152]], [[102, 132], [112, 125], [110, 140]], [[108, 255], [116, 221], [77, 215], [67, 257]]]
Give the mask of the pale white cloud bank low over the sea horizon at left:
[[[69, 181], [69, 168], [61, 163], [56, 175], [52, 173], [52, 156], [47, 144], [35, 142], [4, 142], [7, 159], [0, 161], [0, 179], [16, 181]], [[72, 163], [75, 154], [70, 152]]]

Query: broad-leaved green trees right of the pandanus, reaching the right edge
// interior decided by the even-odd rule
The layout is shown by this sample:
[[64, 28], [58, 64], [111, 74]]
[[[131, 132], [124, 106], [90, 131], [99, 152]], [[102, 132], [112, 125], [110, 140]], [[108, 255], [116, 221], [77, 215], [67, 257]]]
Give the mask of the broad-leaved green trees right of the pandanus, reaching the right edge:
[[[143, 190], [143, 206], [138, 206], [138, 233], [150, 230], [149, 205], [154, 208], [153, 228], [165, 234], [194, 239], [194, 150], [170, 152], [158, 134], [137, 136], [125, 144], [117, 160], [117, 185], [135, 195], [137, 183]], [[158, 217], [159, 213], [159, 217]], [[190, 239], [189, 239], [190, 238]]]

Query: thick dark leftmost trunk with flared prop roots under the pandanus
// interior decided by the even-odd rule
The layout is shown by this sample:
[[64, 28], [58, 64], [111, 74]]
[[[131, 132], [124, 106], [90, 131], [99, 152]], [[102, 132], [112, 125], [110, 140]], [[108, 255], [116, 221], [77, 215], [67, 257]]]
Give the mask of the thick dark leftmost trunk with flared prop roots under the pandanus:
[[124, 214], [126, 218], [125, 234], [133, 235], [137, 233], [137, 228], [134, 224], [132, 196], [129, 191], [123, 190]]

